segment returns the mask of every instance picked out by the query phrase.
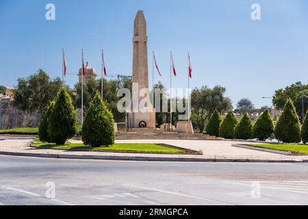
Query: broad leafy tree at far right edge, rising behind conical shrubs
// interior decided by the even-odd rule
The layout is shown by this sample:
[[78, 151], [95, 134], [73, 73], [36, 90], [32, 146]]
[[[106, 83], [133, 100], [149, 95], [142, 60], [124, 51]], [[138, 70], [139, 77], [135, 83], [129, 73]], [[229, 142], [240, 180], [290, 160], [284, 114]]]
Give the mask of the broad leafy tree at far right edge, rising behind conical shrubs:
[[[272, 99], [272, 103], [279, 110], [282, 110], [287, 102], [287, 99], [291, 99], [296, 108], [296, 113], [302, 118], [302, 112], [307, 112], [308, 108], [308, 84], [303, 84], [300, 81], [293, 83], [291, 86], [287, 86], [284, 89], [276, 90]], [[303, 99], [302, 99], [303, 96]], [[304, 101], [304, 111], [303, 103]]]

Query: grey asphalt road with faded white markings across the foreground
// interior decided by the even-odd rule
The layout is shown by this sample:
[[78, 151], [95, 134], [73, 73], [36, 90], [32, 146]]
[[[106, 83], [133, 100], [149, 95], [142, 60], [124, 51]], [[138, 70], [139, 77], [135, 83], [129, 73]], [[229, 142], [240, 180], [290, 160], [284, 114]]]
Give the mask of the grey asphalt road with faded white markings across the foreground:
[[308, 164], [0, 155], [0, 205], [308, 205]]

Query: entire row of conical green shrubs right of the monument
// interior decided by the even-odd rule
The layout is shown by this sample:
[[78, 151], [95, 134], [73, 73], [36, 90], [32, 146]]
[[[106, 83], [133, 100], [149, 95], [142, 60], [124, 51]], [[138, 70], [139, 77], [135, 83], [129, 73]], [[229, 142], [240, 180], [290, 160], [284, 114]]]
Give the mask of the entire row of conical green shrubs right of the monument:
[[[222, 138], [238, 138], [267, 140], [276, 138], [281, 142], [298, 143], [303, 140], [305, 144], [308, 142], [308, 112], [305, 116], [302, 127], [300, 128], [300, 120], [296, 114], [294, 104], [288, 99], [283, 108], [283, 112], [277, 121], [276, 127], [270, 112], [265, 110], [257, 119], [255, 124], [251, 121], [248, 114], [245, 114], [240, 121], [229, 110], [227, 115], [221, 119], [220, 114], [215, 110], [211, 115], [206, 131], [209, 135], [220, 136]], [[219, 125], [218, 125], [219, 124]]]

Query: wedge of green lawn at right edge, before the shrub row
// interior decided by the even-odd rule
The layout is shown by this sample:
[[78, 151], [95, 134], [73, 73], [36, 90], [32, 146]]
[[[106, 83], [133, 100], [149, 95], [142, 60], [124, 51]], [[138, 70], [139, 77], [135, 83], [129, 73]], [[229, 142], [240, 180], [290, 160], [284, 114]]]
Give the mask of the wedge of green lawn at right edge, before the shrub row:
[[279, 151], [291, 151], [293, 153], [308, 154], [308, 145], [305, 144], [251, 144], [264, 149], [274, 149]]

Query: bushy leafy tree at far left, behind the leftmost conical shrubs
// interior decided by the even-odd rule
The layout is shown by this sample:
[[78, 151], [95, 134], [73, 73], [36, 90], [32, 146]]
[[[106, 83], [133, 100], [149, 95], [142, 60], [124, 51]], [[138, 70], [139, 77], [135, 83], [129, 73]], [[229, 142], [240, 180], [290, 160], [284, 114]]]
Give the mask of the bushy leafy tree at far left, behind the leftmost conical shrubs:
[[[38, 73], [30, 75], [27, 79], [18, 78], [17, 81], [18, 84], [16, 90], [14, 90], [14, 105], [20, 110], [40, 114], [63, 86], [59, 77], [51, 80], [42, 69], [38, 70]], [[73, 94], [68, 86], [66, 86], [66, 90]]]

